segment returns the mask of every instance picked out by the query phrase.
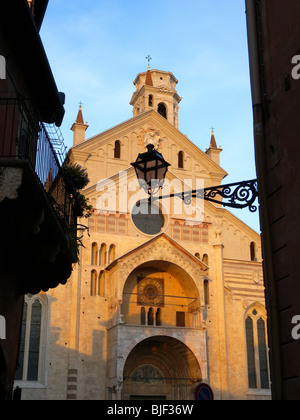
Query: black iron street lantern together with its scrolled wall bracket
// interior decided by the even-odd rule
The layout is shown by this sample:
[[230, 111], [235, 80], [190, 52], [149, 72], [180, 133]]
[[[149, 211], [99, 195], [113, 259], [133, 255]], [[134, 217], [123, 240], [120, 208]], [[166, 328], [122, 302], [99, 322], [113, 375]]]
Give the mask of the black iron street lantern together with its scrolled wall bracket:
[[161, 153], [155, 150], [153, 144], [148, 144], [147, 149], [148, 151], [140, 153], [136, 162], [131, 165], [136, 171], [140, 187], [149, 194], [149, 200], [152, 202], [164, 198], [179, 197], [186, 205], [189, 205], [193, 198], [202, 198], [225, 207], [235, 209], [248, 207], [250, 212], [256, 212], [257, 206], [254, 205], [258, 197], [256, 179], [154, 197], [154, 194], [163, 188], [168, 167], [171, 165], [165, 161]]

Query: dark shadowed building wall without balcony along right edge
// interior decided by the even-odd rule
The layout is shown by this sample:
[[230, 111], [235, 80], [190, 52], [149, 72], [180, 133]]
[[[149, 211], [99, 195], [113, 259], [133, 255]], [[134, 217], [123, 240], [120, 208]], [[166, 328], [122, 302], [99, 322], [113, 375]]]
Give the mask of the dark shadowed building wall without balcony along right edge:
[[246, 7], [272, 392], [300, 399], [300, 3]]

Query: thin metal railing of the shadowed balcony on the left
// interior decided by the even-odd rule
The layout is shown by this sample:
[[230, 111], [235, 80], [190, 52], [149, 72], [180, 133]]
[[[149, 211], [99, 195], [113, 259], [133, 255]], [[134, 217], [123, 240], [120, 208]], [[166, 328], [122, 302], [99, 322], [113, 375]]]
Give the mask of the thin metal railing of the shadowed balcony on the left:
[[0, 98], [0, 159], [26, 160], [35, 171], [60, 223], [76, 226], [77, 191], [64, 177], [66, 147], [55, 126], [40, 121], [29, 101]]

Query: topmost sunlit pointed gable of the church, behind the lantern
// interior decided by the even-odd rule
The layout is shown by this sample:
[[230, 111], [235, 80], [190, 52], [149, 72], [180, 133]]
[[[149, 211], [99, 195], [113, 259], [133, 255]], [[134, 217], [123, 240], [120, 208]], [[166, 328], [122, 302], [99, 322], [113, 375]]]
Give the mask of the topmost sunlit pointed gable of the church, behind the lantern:
[[[205, 186], [220, 185], [227, 176], [218, 164], [156, 111], [150, 110], [131, 118], [70, 149], [70, 156], [86, 165], [91, 184], [127, 170], [139, 153], [146, 151], [145, 142], [154, 136], [159, 152], [171, 164], [179, 178], [205, 180]], [[116, 142], [120, 142], [121, 159], [115, 159]], [[184, 171], [178, 168], [178, 154], [184, 152]]]

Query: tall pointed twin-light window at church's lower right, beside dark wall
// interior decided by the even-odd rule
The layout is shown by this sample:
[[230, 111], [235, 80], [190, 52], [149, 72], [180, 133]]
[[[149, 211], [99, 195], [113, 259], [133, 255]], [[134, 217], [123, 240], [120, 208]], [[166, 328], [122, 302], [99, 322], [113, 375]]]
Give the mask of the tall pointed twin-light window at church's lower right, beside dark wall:
[[265, 319], [259, 309], [249, 311], [246, 321], [248, 386], [270, 389]]

